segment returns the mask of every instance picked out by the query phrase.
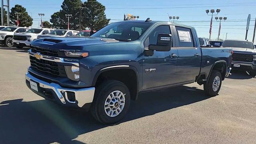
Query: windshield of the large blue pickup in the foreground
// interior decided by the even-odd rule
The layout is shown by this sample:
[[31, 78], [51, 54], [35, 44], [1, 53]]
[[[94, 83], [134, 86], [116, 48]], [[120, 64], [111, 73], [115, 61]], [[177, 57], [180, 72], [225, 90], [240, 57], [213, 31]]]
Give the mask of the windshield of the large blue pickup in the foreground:
[[109, 24], [92, 37], [114, 38], [119, 41], [130, 42], [137, 40], [152, 24], [139, 22], [117, 22]]

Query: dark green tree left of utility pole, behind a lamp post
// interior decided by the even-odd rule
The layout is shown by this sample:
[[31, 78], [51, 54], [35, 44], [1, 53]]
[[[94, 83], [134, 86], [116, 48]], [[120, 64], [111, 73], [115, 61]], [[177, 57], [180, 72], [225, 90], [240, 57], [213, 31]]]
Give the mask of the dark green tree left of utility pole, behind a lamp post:
[[79, 7], [81, 3], [81, 0], [64, 0], [61, 6], [62, 10], [55, 12], [51, 16], [50, 22], [52, 23], [52, 27], [56, 29], [67, 29], [68, 18], [66, 18], [65, 14], [72, 14], [72, 17], [69, 19], [69, 28], [71, 30], [78, 30], [80, 16]]

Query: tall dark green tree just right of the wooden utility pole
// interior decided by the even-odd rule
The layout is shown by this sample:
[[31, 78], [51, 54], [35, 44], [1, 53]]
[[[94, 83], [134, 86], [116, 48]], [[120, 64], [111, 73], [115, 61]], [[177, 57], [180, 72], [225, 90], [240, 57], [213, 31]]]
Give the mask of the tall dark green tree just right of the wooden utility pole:
[[105, 14], [106, 8], [100, 2], [87, 0], [84, 5], [86, 8], [83, 12], [83, 21], [90, 30], [99, 30], [109, 23], [110, 19], [107, 19]]

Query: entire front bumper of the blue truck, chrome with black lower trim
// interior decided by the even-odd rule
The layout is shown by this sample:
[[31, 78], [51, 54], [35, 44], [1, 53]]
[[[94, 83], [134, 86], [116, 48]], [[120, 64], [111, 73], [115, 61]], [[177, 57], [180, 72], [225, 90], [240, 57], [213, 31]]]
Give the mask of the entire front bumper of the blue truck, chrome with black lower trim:
[[[38, 78], [32, 76], [29, 72], [26, 73], [25, 78], [26, 84], [28, 88], [30, 88], [30, 90], [42, 96], [43, 98], [56, 101], [58, 104], [61, 104], [63, 106], [84, 108], [86, 104], [92, 103], [92, 100], [94, 98], [94, 87], [80, 89], [63, 88], [59, 84], [52, 82], [48, 83], [39, 80]], [[36, 82], [38, 91], [31, 88], [30, 81]], [[68, 94], [70, 92], [74, 94], [74, 98], [72, 98], [72, 100], [70, 99], [70, 97], [68, 97]]]

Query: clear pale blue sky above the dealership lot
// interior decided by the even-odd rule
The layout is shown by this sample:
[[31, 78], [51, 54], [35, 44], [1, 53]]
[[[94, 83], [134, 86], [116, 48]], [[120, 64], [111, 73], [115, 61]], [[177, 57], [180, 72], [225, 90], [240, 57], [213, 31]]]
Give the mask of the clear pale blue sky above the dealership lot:
[[[82, 0], [84, 2], [85, 0]], [[51, 15], [61, 9], [63, 0], [10, 0], [10, 8], [20, 4], [26, 8], [32, 16], [33, 28], [38, 27], [40, 17], [38, 13], [44, 13], [43, 20], [50, 21]], [[205, 10], [220, 9], [217, 16], [227, 17], [221, 22], [220, 38], [245, 39], [248, 14], [251, 14], [248, 40], [252, 40], [255, 18], [255, 0], [98, 0], [106, 6], [106, 17], [110, 22], [123, 20], [124, 14], [140, 16], [139, 20], [169, 21], [170, 16], [179, 16], [177, 23], [194, 26], [198, 37], [209, 38], [211, 16]], [[214, 16], [215, 18], [215, 16]], [[214, 19], [213, 18], [213, 19]], [[219, 21], [213, 21], [211, 39], [218, 37]], [[256, 44], [256, 43], [255, 43]]]

